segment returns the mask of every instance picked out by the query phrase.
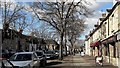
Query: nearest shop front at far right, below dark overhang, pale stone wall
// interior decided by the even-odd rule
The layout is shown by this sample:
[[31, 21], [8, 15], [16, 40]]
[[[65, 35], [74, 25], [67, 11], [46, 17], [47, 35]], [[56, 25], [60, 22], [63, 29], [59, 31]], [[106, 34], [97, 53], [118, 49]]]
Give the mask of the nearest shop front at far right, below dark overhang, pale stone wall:
[[107, 62], [116, 65], [116, 56], [117, 56], [117, 46], [116, 46], [117, 37], [112, 35], [102, 41], [104, 45], [103, 56]]

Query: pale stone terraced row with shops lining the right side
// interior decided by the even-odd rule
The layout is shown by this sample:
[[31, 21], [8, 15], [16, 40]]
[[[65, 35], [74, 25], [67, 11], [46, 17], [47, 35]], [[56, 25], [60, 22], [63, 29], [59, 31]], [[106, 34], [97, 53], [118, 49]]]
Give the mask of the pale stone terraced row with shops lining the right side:
[[120, 67], [120, 2], [106, 11], [86, 36], [86, 54], [102, 55], [105, 61]]

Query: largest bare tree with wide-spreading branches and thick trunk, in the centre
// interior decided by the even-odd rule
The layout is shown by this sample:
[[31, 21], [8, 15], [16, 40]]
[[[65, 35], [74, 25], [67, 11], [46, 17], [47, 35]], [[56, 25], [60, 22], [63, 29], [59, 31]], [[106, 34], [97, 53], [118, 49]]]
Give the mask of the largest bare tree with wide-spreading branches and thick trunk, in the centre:
[[[63, 38], [65, 36], [67, 24], [73, 25], [75, 22], [81, 24], [81, 19], [91, 14], [91, 11], [83, 4], [85, 1], [79, 2], [35, 2], [33, 11], [39, 20], [49, 23], [60, 35], [60, 55], [62, 59]], [[72, 23], [69, 23], [72, 21]], [[81, 28], [81, 27], [80, 27]]]

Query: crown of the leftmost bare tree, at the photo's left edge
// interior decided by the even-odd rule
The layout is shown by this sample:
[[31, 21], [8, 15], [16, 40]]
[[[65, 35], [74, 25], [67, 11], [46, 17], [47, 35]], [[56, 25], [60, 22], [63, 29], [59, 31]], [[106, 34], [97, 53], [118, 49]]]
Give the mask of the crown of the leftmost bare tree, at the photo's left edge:
[[3, 27], [5, 25], [10, 25], [11, 23], [15, 22], [17, 19], [23, 17], [24, 14], [20, 14], [20, 11], [23, 9], [23, 6], [12, 2], [1, 2], [2, 4], [2, 22]]

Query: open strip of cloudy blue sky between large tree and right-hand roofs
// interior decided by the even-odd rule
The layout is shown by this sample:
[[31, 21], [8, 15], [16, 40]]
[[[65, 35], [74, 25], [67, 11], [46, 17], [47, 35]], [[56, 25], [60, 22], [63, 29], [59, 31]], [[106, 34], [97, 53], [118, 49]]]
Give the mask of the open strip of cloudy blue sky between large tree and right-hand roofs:
[[101, 14], [106, 12], [106, 9], [112, 8], [113, 2], [96, 2], [92, 9], [95, 9], [94, 15], [86, 19], [85, 24], [87, 28], [81, 35], [80, 39], [85, 39], [85, 35], [88, 35], [91, 30], [94, 29], [94, 25], [97, 23], [98, 19], [101, 17]]

